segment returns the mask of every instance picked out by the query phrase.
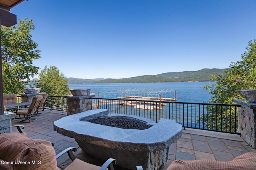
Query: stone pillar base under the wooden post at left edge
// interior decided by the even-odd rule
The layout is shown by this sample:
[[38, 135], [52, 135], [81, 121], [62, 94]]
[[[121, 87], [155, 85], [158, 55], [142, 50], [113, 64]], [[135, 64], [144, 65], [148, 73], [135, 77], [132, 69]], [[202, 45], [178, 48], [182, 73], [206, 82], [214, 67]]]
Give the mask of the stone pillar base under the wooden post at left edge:
[[[9, 127], [12, 125], [12, 118], [16, 117], [15, 113], [4, 111], [3, 115], [0, 115], [0, 127]], [[11, 133], [12, 128], [3, 129], [0, 131], [0, 134], [2, 133]]]

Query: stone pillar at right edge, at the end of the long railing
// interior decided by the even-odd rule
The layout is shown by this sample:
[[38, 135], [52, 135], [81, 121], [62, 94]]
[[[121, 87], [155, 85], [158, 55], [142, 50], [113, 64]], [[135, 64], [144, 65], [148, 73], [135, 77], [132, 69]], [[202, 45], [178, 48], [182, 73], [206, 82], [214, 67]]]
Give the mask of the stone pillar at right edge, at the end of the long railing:
[[241, 105], [238, 108], [238, 132], [246, 143], [256, 149], [256, 103], [243, 99], [233, 99], [233, 102]]

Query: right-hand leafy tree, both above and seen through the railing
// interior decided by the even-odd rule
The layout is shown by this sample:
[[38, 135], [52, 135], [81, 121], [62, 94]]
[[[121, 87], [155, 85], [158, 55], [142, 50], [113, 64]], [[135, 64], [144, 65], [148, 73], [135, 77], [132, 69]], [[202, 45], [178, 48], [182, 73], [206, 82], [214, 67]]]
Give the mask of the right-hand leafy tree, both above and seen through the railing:
[[[204, 86], [206, 90], [210, 91], [210, 94], [213, 94], [210, 99], [211, 103], [234, 104], [232, 99], [242, 98], [236, 90], [256, 88], [256, 41], [249, 41], [248, 44], [247, 51], [241, 56], [242, 61], [231, 63], [224, 74], [212, 76], [212, 81], [216, 84]], [[237, 111], [234, 108], [229, 107], [223, 110], [212, 107], [208, 115], [201, 117], [201, 122], [209, 129], [227, 128], [230, 131], [235, 131], [236, 116]], [[205, 121], [207, 118], [208, 122]], [[225, 123], [224, 127], [221, 126], [222, 123]]]

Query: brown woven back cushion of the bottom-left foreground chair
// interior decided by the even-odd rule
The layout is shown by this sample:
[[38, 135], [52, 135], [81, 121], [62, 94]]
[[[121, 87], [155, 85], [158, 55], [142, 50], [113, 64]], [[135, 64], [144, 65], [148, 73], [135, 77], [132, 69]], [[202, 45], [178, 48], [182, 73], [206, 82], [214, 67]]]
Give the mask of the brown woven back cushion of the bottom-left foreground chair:
[[20, 133], [4, 133], [0, 135], [0, 153], [0, 169], [59, 170], [49, 141], [31, 139]]

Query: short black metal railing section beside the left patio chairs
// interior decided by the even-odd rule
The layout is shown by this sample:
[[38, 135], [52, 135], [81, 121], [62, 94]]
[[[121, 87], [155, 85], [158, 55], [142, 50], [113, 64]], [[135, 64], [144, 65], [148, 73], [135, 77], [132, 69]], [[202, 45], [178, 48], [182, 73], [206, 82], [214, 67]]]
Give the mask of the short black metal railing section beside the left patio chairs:
[[63, 96], [48, 96], [45, 101], [44, 109], [67, 111], [67, 98]]

